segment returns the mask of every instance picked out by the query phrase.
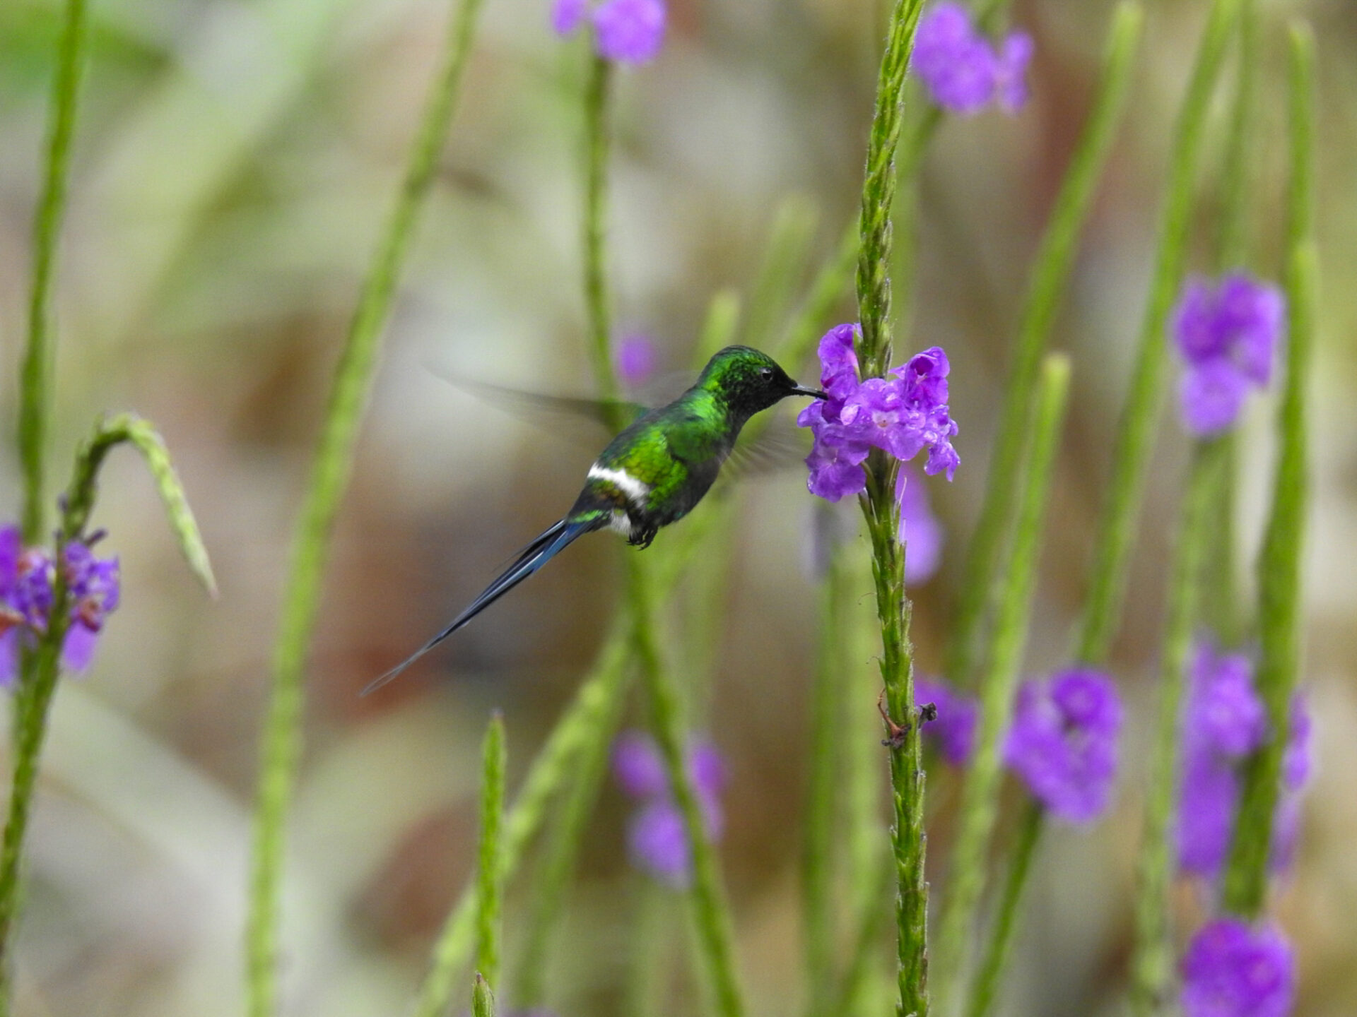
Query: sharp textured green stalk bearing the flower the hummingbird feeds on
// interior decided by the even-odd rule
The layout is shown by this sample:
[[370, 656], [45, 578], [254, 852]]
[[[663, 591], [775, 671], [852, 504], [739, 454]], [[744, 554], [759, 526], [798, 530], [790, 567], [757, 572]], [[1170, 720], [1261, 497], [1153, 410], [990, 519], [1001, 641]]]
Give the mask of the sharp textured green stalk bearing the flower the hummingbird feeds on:
[[[905, 71], [913, 49], [921, 0], [897, 0], [881, 58], [877, 104], [867, 138], [862, 188], [858, 254], [858, 362], [863, 377], [883, 377], [890, 366], [890, 233], [896, 197], [896, 149]], [[890, 731], [890, 781], [894, 826], [892, 853], [898, 888], [897, 1012], [901, 1017], [928, 1013], [928, 884], [924, 880], [924, 769], [923, 744], [915, 713], [913, 650], [909, 644], [909, 605], [905, 601], [905, 549], [898, 540], [900, 506], [894, 485], [898, 464], [874, 450], [867, 461], [863, 515], [871, 536], [877, 618], [881, 622], [881, 677], [889, 716], [902, 728]]]

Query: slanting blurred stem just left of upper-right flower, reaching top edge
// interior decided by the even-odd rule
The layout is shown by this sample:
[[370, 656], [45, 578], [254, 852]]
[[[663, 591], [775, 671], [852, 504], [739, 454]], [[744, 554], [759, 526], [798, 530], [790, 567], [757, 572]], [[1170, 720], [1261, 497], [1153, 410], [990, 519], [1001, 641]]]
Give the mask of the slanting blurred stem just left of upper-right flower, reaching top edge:
[[1087, 664], [1107, 658], [1121, 614], [1136, 517], [1145, 488], [1145, 472], [1155, 442], [1167, 348], [1164, 325], [1182, 277], [1191, 225], [1193, 183], [1205, 138], [1205, 119], [1212, 91], [1235, 26], [1240, 0], [1213, 0], [1197, 47], [1191, 79], [1174, 126], [1168, 159], [1168, 184], [1159, 220], [1155, 259], [1145, 313], [1140, 328], [1130, 389], [1117, 426], [1111, 454], [1107, 499], [1094, 544], [1088, 594], [1080, 620], [1075, 656]]

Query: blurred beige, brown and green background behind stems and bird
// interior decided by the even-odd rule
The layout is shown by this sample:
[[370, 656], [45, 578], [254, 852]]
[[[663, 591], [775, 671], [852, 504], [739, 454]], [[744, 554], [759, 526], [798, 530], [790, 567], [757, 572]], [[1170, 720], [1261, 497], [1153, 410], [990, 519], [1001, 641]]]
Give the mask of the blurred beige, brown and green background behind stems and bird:
[[[1299, 865], [1277, 907], [1300, 955], [1296, 1012], [1337, 1017], [1357, 1012], [1357, 796], [1342, 782], [1357, 770], [1357, 289], [1348, 285], [1357, 271], [1357, 7], [1259, 7], [1254, 236], [1265, 274], [1277, 271], [1281, 228], [1285, 19], [1311, 18], [1320, 53], [1324, 286], [1307, 572], [1318, 776]], [[1027, 266], [1088, 111], [1110, 9], [1103, 0], [1018, 0], [1014, 22], [1037, 41], [1033, 102], [1016, 118], [947, 122], [923, 171], [915, 332], [897, 348], [942, 344], [951, 355], [963, 461], [954, 484], [928, 481], [951, 537], [943, 571], [916, 591], [924, 670], [939, 663]], [[448, 12], [440, 0], [92, 3], [56, 297], [53, 475], [64, 483], [96, 412], [129, 408], [155, 420], [197, 509], [221, 598], [208, 602], [194, 587], [140, 464], [115, 457], [95, 522], [122, 557], [123, 606], [91, 674], [57, 698], [31, 837], [20, 1013], [242, 1012], [256, 736], [289, 532]], [[357, 697], [559, 515], [601, 443], [535, 430], [438, 377], [590, 391], [578, 281], [584, 53], [551, 34], [547, 15], [546, 0], [486, 5], [388, 328], [311, 655], [284, 902], [286, 1013], [404, 1012], [471, 866], [486, 715], [505, 711], [513, 780], [589, 666], [616, 598], [617, 556], [632, 553], [582, 542], [418, 671]], [[1080, 602], [1167, 138], [1205, 4], [1155, 0], [1148, 15], [1130, 113], [1054, 339], [1073, 354], [1075, 386], [1033, 673], [1061, 663]], [[788, 198], [817, 217], [813, 264], [830, 255], [856, 209], [879, 16], [875, 0], [672, 0], [660, 60], [622, 75], [616, 317], [620, 330], [655, 338], [665, 370], [689, 363], [716, 289], [748, 294]], [[0, 5], [0, 518], [14, 518], [19, 503], [11, 422], [58, 19], [56, 0]], [[1201, 182], [1200, 250], [1216, 205], [1215, 152]], [[851, 316], [845, 300], [821, 324]], [[1270, 410], [1258, 401], [1246, 428], [1242, 553], [1266, 510]], [[1057, 829], [1046, 841], [1003, 1005], [1010, 1014], [1118, 1006], [1164, 534], [1185, 445], [1166, 415], [1115, 654], [1133, 705], [1118, 807], [1091, 831]], [[802, 993], [811, 499], [799, 469], [737, 496], [742, 521], [707, 727], [730, 767], [721, 854], [738, 956], [753, 1013], [771, 1016], [799, 1006]], [[859, 709], [870, 723], [871, 698]], [[934, 788], [942, 845], [949, 777]], [[696, 1010], [680, 902], [627, 866], [626, 814], [609, 788], [554, 959], [550, 1001], [566, 1017], [630, 1012], [638, 922], [668, 956], [658, 1012]], [[510, 945], [521, 885], [510, 896]], [[1201, 909], [1187, 888], [1182, 904], [1185, 915]]]

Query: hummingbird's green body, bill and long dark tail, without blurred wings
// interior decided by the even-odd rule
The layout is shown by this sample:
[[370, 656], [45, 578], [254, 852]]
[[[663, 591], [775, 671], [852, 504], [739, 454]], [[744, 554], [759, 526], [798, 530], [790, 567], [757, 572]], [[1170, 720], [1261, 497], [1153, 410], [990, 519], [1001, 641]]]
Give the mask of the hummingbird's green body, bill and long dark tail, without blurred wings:
[[643, 410], [598, 454], [579, 496], [452, 622], [362, 694], [380, 689], [586, 533], [612, 529], [649, 548], [661, 527], [693, 510], [750, 416], [787, 396], [826, 399], [798, 385], [768, 354], [749, 346], [718, 350], [697, 381], [668, 405]]

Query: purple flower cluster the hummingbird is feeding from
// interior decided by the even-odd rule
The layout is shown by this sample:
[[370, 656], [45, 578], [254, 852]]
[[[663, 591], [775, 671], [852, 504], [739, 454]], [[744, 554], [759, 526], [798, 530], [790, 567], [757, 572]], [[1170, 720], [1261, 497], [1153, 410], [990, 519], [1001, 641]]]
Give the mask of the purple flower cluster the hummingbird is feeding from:
[[[924, 473], [946, 471], [951, 480], [961, 460], [951, 447], [957, 424], [947, 410], [947, 354], [934, 346], [896, 367], [890, 378], [858, 378], [855, 324], [830, 328], [820, 340], [820, 382], [828, 399], [816, 400], [797, 418], [816, 443], [806, 458], [813, 495], [837, 502], [867, 488], [863, 461], [873, 447], [901, 462], [924, 449]], [[897, 481], [896, 496], [908, 484]]]

